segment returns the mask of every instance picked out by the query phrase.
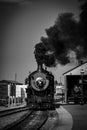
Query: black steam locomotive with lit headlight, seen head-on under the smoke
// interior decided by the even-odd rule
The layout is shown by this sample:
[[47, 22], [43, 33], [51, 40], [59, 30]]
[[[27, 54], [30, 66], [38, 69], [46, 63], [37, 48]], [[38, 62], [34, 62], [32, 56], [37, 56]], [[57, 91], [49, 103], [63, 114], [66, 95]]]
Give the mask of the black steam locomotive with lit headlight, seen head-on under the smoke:
[[42, 64], [38, 65], [36, 71], [29, 74], [26, 84], [28, 84], [26, 89], [27, 105], [30, 109], [55, 109], [54, 76], [44, 69]]

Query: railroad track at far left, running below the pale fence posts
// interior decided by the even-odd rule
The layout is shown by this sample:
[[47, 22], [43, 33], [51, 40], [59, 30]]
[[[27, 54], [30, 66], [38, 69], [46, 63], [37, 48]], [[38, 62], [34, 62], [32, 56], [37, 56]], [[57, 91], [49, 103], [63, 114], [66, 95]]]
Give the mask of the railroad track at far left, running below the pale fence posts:
[[18, 113], [21, 111], [26, 111], [26, 110], [29, 110], [29, 108], [28, 107], [21, 107], [21, 108], [14, 108], [14, 109], [0, 111], [0, 117], [8, 116], [8, 115], [15, 114], [15, 113]]

